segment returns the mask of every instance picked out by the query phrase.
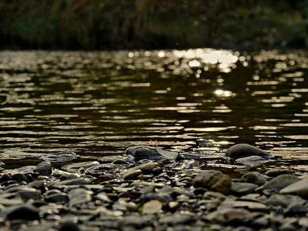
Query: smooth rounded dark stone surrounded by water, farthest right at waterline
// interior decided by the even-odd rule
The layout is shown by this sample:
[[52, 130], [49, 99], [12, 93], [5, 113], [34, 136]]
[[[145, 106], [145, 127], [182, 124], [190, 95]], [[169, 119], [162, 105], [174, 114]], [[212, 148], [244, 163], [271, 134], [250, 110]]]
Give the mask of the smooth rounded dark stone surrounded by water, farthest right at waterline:
[[262, 156], [269, 158], [271, 155], [249, 144], [235, 144], [227, 149], [226, 156], [230, 158], [241, 158], [246, 156]]

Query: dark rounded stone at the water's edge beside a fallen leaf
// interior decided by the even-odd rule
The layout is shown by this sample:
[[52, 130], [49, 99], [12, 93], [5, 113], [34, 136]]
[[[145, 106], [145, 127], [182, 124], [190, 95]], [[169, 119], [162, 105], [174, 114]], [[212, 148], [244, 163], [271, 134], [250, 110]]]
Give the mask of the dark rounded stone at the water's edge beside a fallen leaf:
[[162, 157], [161, 155], [159, 155], [159, 153], [155, 150], [154, 147], [148, 145], [136, 145], [127, 147], [124, 155], [129, 155], [138, 159]]

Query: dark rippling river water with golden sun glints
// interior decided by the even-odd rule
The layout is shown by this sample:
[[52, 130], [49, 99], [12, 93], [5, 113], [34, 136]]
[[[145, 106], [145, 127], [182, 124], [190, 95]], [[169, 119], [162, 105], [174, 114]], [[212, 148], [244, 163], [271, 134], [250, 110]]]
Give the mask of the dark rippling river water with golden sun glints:
[[[1, 51], [1, 167], [60, 151], [79, 161], [121, 155], [157, 140], [166, 150], [213, 155], [252, 144], [273, 155], [266, 169], [305, 177], [307, 57], [299, 50]], [[214, 142], [197, 147], [200, 138]]]

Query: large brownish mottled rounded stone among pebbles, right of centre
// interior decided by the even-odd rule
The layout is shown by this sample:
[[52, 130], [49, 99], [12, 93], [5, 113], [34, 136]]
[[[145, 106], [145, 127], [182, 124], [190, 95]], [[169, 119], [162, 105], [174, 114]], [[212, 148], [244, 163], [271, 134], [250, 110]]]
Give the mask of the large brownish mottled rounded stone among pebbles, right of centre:
[[231, 188], [231, 177], [216, 170], [206, 171], [195, 176], [193, 186], [227, 194]]

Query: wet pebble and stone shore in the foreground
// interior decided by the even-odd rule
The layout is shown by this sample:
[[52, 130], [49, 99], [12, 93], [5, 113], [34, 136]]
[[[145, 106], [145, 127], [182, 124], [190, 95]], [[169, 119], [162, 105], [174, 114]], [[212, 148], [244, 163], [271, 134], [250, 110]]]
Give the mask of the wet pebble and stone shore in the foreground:
[[[146, 145], [53, 167], [69, 156], [1, 170], [1, 231], [308, 230], [308, 180], [287, 169], [234, 178], [207, 170], [198, 155]], [[237, 144], [225, 158], [253, 165], [271, 155]]]

